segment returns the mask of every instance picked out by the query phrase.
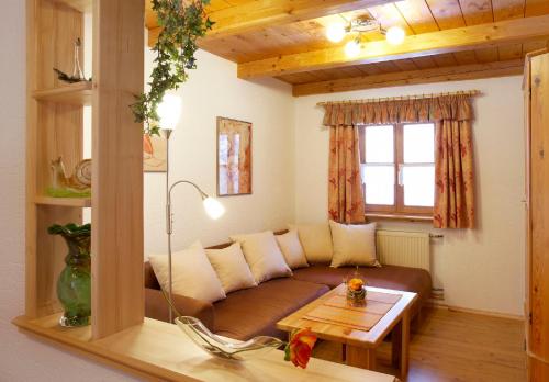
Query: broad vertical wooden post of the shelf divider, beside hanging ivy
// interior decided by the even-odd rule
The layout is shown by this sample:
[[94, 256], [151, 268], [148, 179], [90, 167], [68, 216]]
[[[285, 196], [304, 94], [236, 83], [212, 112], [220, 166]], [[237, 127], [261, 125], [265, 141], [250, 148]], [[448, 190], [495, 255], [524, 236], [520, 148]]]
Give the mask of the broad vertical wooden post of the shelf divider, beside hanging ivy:
[[130, 109], [143, 72], [144, 2], [94, 0], [93, 338], [144, 318], [143, 130]]

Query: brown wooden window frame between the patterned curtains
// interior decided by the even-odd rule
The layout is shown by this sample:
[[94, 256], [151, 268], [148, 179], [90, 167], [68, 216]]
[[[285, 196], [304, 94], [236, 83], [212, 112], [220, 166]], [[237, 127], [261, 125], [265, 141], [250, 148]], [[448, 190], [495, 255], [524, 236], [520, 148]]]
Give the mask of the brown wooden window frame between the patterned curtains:
[[[366, 162], [366, 128], [369, 126], [382, 126], [382, 125], [393, 126], [394, 204], [392, 205], [367, 204], [365, 199], [365, 209], [367, 215], [380, 214], [389, 216], [411, 216], [411, 215], [421, 217], [433, 216], [434, 207], [432, 206], [404, 205], [404, 186], [399, 184], [399, 176], [401, 169], [404, 166], [406, 166], [404, 164], [404, 125], [422, 125], [426, 123], [433, 124], [430, 122], [417, 122], [417, 123], [394, 123], [394, 124], [391, 123], [391, 124], [376, 124], [376, 125], [371, 124], [371, 125], [359, 126], [360, 166], [368, 165]], [[435, 146], [435, 143], [433, 143], [433, 146]], [[366, 194], [363, 182], [362, 182], [362, 192], [363, 194]]]

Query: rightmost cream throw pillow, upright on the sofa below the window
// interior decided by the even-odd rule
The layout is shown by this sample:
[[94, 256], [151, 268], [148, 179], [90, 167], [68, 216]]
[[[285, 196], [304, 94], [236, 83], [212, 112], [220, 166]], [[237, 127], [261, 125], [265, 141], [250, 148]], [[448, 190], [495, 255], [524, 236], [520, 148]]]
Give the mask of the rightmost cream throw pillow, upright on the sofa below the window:
[[347, 225], [330, 221], [329, 227], [334, 238], [332, 267], [380, 267], [376, 258], [376, 223]]

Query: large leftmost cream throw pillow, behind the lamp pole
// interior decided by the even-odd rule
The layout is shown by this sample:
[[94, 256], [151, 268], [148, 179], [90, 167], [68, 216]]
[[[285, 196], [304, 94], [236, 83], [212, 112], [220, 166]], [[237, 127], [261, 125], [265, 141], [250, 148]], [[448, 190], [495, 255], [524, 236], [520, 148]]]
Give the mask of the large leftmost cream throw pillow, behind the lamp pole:
[[[168, 255], [152, 255], [148, 259], [158, 279], [158, 283], [168, 292]], [[199, 241], [187, 249], [172, 254], [171, 278], [173, 294], [208, 301], [210, 303], [226, 297], [221, 281]]]

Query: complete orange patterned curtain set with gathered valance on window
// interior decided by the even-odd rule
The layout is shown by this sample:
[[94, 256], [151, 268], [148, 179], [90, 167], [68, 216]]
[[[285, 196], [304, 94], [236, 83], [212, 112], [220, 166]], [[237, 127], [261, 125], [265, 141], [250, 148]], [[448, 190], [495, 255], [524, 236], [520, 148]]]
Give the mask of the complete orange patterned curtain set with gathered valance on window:
[[434, 226], [473, 228], [472, 121], [471, 97], [467, 94], [327, 103], [324, 125], [330, 128], [330, 217], [346, 223], [363, 221], [358, 133], [352, 126], [433, 122], [436, 136]]

